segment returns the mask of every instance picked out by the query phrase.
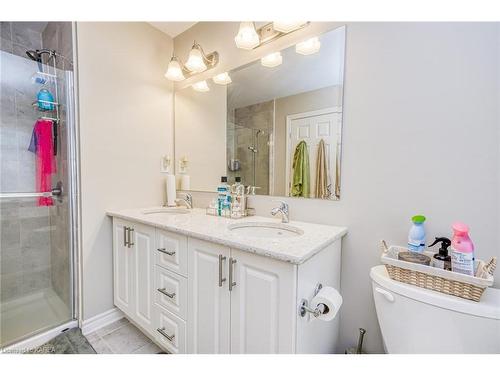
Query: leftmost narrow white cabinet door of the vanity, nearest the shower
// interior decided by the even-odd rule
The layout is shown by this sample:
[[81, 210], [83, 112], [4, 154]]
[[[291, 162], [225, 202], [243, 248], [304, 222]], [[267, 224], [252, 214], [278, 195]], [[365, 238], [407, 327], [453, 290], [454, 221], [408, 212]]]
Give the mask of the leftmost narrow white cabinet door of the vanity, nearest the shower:
[[115, 305], [124, 313], [132, 314], [133, 250], [126, 245], [130, 223], [113, 219], [113, 296]]

